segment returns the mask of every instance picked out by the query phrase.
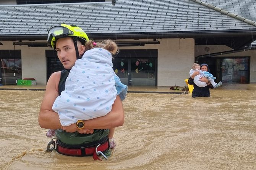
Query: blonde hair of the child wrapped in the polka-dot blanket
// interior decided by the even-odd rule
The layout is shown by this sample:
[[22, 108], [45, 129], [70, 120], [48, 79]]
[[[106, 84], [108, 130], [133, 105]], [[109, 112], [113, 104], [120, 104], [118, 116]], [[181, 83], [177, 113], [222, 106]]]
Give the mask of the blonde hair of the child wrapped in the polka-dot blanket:
[[95, 43], [93, 40], [89, 40], [89, 41], [86, 41], [84, 47], [85, 47], [85, 51], [98, 47], [98, 48], [106, 49], [113, 55], [119, 52], [117, 43], [115, 43], [113, 40], [110, 40], [110, 39], [97, 42], [97, 43]]

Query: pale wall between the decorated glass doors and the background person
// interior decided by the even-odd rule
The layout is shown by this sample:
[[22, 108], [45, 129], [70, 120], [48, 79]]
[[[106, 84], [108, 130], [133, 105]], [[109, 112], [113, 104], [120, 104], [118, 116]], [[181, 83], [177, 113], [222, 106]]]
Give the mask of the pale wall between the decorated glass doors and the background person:
[[158, 86], [185, 86], [194, 62], [194, 39], [162, 39], [158, 53]]

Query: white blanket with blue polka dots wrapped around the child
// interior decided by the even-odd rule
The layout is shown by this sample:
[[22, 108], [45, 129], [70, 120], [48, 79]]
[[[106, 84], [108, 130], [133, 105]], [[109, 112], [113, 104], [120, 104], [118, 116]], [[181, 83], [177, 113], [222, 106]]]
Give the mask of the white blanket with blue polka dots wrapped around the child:
[[65, 91], [52, 106], [62, 126], [105, 116], [117, 95], [125, 99], [127, 86], [112, 67], [111, 53], [102, 48], [88, 50], [82, 59], [76, 60], [66, 79]]

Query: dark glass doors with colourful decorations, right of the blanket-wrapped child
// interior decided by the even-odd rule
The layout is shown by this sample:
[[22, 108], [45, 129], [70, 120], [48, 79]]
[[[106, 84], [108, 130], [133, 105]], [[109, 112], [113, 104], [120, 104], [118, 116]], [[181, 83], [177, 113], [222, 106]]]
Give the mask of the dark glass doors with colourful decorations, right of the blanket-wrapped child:
[[157, 86], [157, 49], [122, 49], [113, 70], [127, 86]]

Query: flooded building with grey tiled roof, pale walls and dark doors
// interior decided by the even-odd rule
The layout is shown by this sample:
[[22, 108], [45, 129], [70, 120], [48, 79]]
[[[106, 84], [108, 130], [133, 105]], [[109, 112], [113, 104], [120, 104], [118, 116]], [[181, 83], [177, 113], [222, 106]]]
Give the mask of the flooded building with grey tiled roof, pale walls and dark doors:
[[[251, 48], [256, 37], [255, 10], [253, 15], [253, 9], [236, 11], [230, 3], [228, 9], [220, 8], [231, 11], [224, 14], [214, 9], [222, 3], [215, 7], [210, 3], [214, 1], [2, 5], [1, 83], [35, 78], [45, 84], [51, 73], [63, 69], [46, 46], [48, 29], [60, 23], [78, 25], [95, 41], [116, 40], [120, 53], [113, 70], [127, 85], [185, 86], [194, 62], [207, 63], [217, 81], [256, 82], [256, 51]], [[230, 16], [235, 12], [239, 14]]]

